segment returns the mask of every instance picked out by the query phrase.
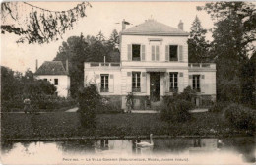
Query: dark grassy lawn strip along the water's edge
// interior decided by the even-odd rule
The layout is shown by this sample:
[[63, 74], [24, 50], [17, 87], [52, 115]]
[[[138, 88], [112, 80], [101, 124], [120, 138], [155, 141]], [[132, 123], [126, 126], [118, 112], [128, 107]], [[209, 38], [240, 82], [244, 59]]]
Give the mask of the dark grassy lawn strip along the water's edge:
[[97, 114], [96, 129], [83, 128], [78, 113], [1, 114], [2, 140], [83, 140], [246, 135], [228, 127], [218, 113], [192, 114], [185, 123], [166, 123], [159, 114]]

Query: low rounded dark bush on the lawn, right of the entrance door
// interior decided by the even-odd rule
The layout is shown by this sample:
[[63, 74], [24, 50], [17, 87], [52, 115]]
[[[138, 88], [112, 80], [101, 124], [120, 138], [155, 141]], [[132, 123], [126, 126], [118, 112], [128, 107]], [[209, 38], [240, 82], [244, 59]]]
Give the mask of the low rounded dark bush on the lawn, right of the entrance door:
[[189, 110], [193, 104], [186, 100], [164, 97], [160, 107], [160, 117], [167, 122], [185, 122], [191, 118]]

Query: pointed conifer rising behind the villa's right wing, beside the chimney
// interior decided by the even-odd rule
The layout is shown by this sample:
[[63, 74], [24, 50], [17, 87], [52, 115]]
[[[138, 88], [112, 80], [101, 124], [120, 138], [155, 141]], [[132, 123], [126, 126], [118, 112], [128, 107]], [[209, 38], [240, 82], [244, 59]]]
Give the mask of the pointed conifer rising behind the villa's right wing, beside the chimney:
[[196, 16], [188, 39], [188, 59], [190, 63], [208, 62], [209, 44], [206, 42], [207, 30], [201, 26], [201, 22]]

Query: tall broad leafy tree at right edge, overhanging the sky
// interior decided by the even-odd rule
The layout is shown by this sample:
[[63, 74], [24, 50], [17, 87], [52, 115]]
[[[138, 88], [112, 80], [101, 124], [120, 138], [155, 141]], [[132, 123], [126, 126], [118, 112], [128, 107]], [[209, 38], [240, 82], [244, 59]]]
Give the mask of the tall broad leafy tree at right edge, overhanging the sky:
[[210, 54], [217, 64], [219, 100], [240, 102], [245, 93], [243, 81], [248, 79], [241, 72], [247, 66], [249, 52], [255, 50], [252, 43], [256, 40], [255, 5], [249, 2], [215, 2], [198, 9], [206, 10], [215, 21]]

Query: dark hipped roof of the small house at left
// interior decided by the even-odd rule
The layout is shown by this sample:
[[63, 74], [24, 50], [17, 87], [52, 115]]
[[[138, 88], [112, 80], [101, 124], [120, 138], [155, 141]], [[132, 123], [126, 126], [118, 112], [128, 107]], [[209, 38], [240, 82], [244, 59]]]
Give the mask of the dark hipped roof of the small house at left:
[[61, 61], [45, 61], [34, 75], [68, 75]]

